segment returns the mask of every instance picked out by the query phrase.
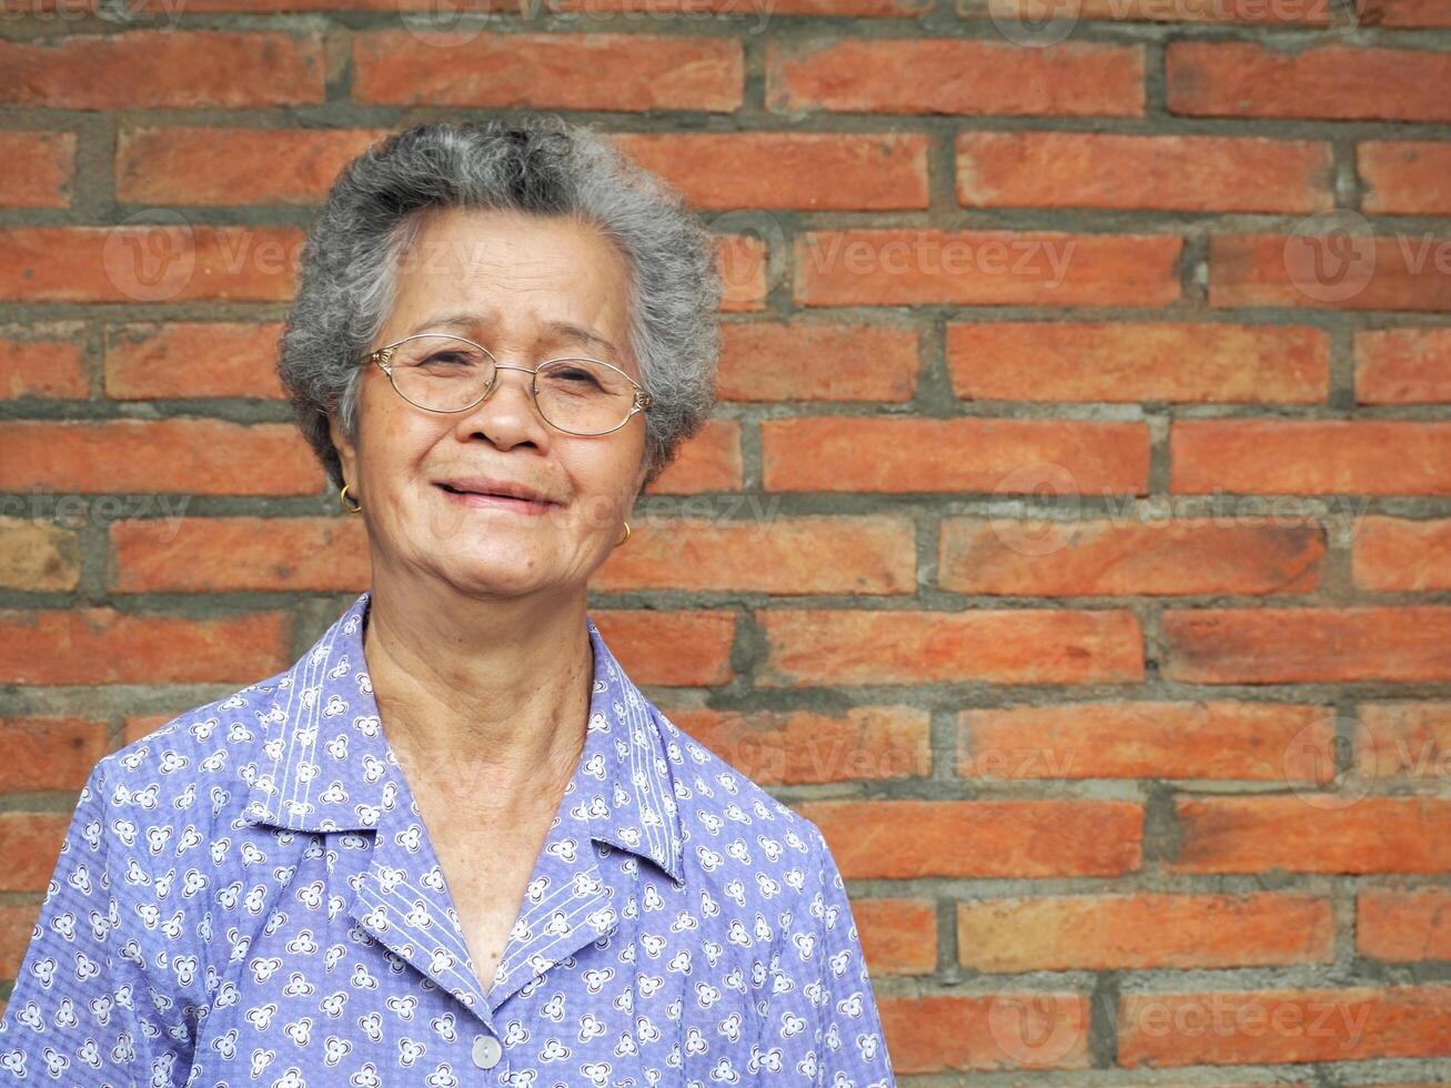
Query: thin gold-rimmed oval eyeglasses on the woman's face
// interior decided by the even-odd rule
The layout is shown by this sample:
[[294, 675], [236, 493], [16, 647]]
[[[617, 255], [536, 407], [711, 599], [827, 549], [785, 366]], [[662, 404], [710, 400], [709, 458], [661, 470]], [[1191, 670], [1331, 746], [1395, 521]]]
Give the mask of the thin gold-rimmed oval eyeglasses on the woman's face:
[[493, 392], [501, 370], [533, 374], [540, 416], [567, 434], [609, 434], [650, 408], [650, 395], [612, 363], [570, 355], [530, 367], [499, 363], [482, 344], [419, 332], [369, 355], [408, 403], [427, 412], [466, 412]]

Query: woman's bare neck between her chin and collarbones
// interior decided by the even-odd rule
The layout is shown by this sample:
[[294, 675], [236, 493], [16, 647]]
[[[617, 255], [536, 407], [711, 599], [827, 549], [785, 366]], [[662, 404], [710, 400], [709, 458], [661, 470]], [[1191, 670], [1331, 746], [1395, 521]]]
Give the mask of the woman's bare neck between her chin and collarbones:
[[583, 593], [477, 599], [379, 573], [363, 648], [414, 792], [505, 817], [557, 799], [583, 751], [593, 680]]

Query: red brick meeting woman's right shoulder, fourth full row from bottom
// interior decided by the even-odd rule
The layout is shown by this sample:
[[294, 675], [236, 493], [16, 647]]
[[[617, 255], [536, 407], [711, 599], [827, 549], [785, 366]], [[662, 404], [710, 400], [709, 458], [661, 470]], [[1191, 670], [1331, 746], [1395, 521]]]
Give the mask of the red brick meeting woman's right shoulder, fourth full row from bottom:
[[926, 778], [927, 712], [908, 706], [679, 711], [670, 721], [755, 782], [805, 785]]

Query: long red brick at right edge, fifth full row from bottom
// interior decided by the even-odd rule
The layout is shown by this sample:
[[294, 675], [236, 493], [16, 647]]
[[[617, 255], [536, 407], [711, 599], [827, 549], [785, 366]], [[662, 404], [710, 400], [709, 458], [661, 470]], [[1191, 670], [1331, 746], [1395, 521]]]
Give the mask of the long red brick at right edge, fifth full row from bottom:
[[1451, 680], [1451, 608], [1206, 608], [1162, 627], [1184, 683]]

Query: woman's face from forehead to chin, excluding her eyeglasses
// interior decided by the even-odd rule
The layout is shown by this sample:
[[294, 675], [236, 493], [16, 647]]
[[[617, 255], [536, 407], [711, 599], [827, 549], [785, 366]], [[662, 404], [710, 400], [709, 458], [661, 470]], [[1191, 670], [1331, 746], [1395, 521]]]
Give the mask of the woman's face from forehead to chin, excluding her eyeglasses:
[[[403, 257], [393, 310], [371, 348], [416, 332], [453, 334], [503, 366], [588, 355], [643, 384], [628, 302], [624, 258], [580, 222], [450, 209], [428, 218]], [[337, 422], [332, 441], [348, 496], [363, 503], [376, 576], [443, 579], [473, 596], [583, 589], [620, 540], [644, 479], [644, 415], [611, 434], [566, 434], [540, 418], [530, 382], [501, 368], [483, 403], [444, 415], [411, 405], [382, 367], [366, 367], [357, 444]], [[480, 476], [551, 502], [525, 506], [445, 486]]]

